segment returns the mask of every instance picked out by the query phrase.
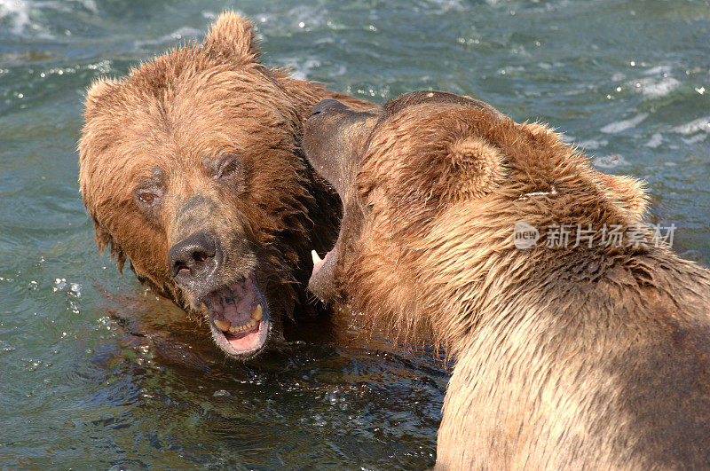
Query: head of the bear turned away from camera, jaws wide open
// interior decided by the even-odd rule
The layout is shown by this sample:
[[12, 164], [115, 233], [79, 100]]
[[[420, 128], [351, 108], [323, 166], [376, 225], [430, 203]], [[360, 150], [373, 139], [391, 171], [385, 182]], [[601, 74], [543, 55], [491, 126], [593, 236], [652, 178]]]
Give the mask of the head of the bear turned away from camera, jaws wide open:
[[523, 271], [564, 260], [545, 249], [545, 234], [516, 247], [517, 223], [628, 227], [647, 204], [638, 181], [599, 173], [546, 126], [438, 91], [368, 111], [323, 100], [304, 151], [343, 201], [339, 237], [314, 257], [309, 288], [438, 341], [473, 328]]

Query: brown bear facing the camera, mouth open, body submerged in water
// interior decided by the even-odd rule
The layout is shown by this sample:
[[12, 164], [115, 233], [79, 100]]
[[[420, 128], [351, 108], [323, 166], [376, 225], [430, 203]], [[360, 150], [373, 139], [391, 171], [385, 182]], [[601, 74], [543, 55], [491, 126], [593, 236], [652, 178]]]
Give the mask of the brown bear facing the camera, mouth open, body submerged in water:
[[310, 246], [335, 240], [340, 201], [300, 151], [304, 114], [322, 98], [372, 106], [259, 59], [253, 25], [226, 12], [203, 42], [94, 82], [78, 145], [99, 249], [208, 318], [236, 358], [311, 309]]

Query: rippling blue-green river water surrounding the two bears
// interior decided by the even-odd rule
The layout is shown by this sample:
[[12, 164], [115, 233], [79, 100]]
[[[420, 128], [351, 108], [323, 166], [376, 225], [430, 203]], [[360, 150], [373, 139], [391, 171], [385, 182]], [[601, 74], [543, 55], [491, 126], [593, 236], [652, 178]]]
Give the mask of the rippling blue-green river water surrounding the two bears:
[[375, 339], [225, 364], [96, 253], [76, 183], [84, 87], [225, 8], [299, 78], [376, 102], [449, 90], [550, 122], [598, 168], [645, 179], [651, 221], [710, 261], [707, 1], [0, 0], [0, 466], [434, 462], [440, 362]]

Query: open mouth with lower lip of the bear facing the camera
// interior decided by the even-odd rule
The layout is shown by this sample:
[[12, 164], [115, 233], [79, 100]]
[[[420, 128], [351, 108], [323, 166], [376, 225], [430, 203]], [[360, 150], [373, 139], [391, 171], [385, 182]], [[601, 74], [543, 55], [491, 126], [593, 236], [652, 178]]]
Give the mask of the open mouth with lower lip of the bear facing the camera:
[[202, 299], [217, 346], [233, 357], [254, 357], [264, 348], [271, 321], [256, 274], [221, 287]]

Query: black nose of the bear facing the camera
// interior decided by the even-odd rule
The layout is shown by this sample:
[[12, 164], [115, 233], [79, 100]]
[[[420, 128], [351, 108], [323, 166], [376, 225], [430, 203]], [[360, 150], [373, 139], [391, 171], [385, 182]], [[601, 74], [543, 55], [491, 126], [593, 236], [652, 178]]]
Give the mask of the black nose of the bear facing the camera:
[[208, 232], [197, 232], [177, 242], [168, 252], [170, 274], [178, 285], [189, 287], [204, 282], [217, 270], [218, 243]]

